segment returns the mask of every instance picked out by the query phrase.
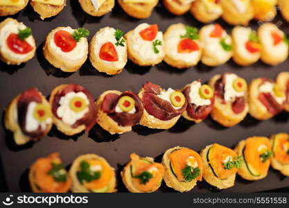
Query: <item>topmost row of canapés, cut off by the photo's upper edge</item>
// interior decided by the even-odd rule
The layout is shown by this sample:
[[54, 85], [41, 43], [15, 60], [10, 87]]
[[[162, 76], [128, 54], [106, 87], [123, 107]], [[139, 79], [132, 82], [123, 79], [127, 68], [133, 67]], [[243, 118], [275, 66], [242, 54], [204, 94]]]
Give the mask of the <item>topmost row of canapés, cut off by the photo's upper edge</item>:
[[[14, 15], [24, 9], [29, 0], [1, 0], [0, 16]], [[114, 8], [114, 0], [78, 0], [82, 9], [92, 16], [103, 16]], [[159, 0], [118, 0], [128, 15], [146, 19]], [[41, 19], [60, 13], [67, 0], [30, 0], [30, 5]], [[270, 21], [277, 15], [277, 4], [284, 19], [289, 21], [287, 0], [163, 0], [164, 6], [174, 15], [183, 15], [191, 10], [198, 21], [209, 23], [222, 17], [229, 24], [247, 25], [253, 18]]]

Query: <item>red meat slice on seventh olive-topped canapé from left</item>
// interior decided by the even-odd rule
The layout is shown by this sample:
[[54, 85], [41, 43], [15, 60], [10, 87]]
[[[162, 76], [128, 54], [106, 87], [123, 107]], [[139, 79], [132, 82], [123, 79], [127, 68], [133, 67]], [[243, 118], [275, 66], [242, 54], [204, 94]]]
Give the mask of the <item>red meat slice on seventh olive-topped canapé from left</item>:
[[[263, 78], [263, 82], [261, 83], [261, 85], [263, 85], [263, 83], [265, 82], [273, 81]], [[279, 114], [279, 112], [283, 110], [283, 105], [278, 103], [270, 92], [260, 93], [258, 99], [267, 108], [268, 112], [273, 115]]]

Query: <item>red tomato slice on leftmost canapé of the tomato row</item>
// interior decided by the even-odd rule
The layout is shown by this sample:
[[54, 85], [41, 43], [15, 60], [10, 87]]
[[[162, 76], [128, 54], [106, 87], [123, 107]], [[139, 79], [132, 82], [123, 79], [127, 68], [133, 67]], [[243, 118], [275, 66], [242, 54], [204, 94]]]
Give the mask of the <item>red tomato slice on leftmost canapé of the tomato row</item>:
[[19, 39], [16, 33], [11, 33], [8, 36], [6, 44], [11, 51], [18, 54], [26, 54], [33, 50], [33, 46], [28, 44], [25, 40]]

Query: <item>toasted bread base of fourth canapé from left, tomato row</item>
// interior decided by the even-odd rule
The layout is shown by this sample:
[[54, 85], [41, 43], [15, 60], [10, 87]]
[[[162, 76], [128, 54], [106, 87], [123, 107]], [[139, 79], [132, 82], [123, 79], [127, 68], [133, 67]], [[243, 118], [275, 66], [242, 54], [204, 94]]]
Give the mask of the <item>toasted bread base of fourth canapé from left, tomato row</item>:
[[132, 35], [133, 35], [134, 31], [129, 31], [128, 33], [125, 34], [125, 39], [128, 42], [128, 59], [131, 60], [132, 62], [134, 62], [134, 64], [137, 64], [141, 67], [147, 67], [147, 66], [153, 66], [156, 64], [159, 64], [165, 56], [165, 52], [164, 52], [164, 44], [162, 44], [159, 48], [159, 54], [157, 55], [157, 58], [155, 60], [144, 60], [137, 51], [135, 51], [133, 49], [133, 45], [135, 44], [132, 41]]

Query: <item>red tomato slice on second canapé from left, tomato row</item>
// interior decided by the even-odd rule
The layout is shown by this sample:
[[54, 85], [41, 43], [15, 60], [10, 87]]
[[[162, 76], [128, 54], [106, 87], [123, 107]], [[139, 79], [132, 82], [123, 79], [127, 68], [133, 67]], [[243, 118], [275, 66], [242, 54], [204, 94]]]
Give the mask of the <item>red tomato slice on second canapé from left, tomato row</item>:
[[67, 31], [57, 31], [54, 34], [54, 42], [56, 46], [60, 47], [61, 51], [69, 52], [76, 47], [76, 40], [73, 39], [71, 33]]

